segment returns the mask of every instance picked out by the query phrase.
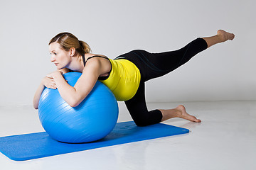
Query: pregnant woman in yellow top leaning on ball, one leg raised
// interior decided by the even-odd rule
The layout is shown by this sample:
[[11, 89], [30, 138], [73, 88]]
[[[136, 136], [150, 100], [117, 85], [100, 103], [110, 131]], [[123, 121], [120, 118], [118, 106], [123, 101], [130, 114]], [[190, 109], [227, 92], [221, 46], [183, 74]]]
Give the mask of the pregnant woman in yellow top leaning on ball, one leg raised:
[[[217, 35], [197, 38], [180, 50], [161, 53], [149, 53], [133, 50], [111, 60], [104, 55], [90, 53], [86, 42], [78, 40], [70, 33], [60, 33], [49, 42], [51, 62], [57, 71], [48, 74], [41, 81], [33, 99], [34, 108], [38, 108], [39, 98], [45, 87], [58, 89], [60, 96], [71, 106], [78, 106], [90, 93], [97, 80], [102, 81], [113, 92], [118, 101], [124, 101], [134, 122], [138, 126], [160, 123], [170, 118], [183, 118], [201, 122], [186, 113], [184, 106], [173, 109], [146, 108], [144, 84], [149, 79], [161, 77], [185, 64], [198, 52], [235, 35], [218, 30]], [[63, 78], [66, 72], [82, 72], [75, 86], [70, 86]]]

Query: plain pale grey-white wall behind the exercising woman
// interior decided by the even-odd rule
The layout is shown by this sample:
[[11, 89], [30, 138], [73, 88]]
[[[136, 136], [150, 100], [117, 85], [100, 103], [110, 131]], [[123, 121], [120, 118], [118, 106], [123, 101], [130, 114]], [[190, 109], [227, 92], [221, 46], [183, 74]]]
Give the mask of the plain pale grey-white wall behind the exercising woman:
[[235, 40], [215, 45], [170, 74], [146, 83], [146, 100], [256, 100], [253, 0], [0, 2], [0, 105], [31, 105], [55, 70], [48, 41], [68, 31], [92, 52], [117, 57], [134, 49], [177, 50], [218, 29]]

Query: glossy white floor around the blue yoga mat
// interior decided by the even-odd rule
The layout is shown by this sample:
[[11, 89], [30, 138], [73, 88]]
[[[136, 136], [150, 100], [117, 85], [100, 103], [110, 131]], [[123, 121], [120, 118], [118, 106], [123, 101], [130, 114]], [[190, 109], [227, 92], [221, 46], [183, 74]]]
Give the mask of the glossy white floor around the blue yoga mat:
[[[149, 109], [179, 103], [149, 103]], [[186, 135], [92, 149], [25, 162], [0, 153], [0, 169], [256, 169], [256, 101], [182, 103], [202, 120], [165, 123], [191, 130]], [[132, 120], [119, 103], [119, 122]], [[0, 137], [41, 132], [32, 106], [0, 106]]]

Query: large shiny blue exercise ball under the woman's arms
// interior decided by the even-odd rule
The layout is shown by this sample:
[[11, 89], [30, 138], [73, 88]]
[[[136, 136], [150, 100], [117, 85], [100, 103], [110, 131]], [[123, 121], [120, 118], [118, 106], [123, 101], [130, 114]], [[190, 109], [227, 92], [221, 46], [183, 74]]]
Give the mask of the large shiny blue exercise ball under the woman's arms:
[[[80, 72], [63, 74], [70, 86], [74, 86], [80, 76]], [[118, 104], [112, 91], [97, 81], [90, 94], [76, 107], [69, 106], [58, 89], [44, 89], [38, 114], [43, 128], [53, 139], [68, 143], [92, 142], [113, 130]]]

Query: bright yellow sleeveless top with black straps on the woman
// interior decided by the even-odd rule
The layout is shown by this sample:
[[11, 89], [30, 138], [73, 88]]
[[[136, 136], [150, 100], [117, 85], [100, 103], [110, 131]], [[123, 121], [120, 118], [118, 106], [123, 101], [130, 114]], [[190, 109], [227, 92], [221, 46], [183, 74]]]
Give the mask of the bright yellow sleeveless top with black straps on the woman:
[[[114, 60], [99, 55], [92, 57], [102, 57], [110, 61], [111, 70], [109, 75], [107, 77], [99, 77], [98, 80], [112, 91], [117, 101], [128, 101], [136, 94], [141, 74], [134, 63], [121, 57], [117, 57]], [[87, 60], [92, 57], [88, 57]], [[82, 56], [82, 60], [85, 65], [87, 62], [87, 60], [85, 61], [85, 56]]]

